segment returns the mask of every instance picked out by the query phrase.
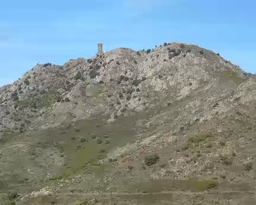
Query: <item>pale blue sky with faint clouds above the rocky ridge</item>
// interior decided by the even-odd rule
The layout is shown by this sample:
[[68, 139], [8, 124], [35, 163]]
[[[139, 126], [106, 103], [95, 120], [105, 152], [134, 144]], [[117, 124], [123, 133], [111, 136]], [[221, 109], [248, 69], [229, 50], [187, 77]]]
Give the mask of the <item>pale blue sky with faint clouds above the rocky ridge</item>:
[[254, 0], [9, 0], [0, 4], [0, 86], [36, 63], [63, 65], [116, 47], [197, 44], [255, 73]]

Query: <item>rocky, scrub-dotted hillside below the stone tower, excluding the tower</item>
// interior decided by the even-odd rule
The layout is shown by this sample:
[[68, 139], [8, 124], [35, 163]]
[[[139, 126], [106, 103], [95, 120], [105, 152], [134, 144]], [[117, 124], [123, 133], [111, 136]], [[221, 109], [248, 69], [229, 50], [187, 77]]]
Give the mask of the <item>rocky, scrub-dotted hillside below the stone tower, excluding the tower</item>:
[[185, 43], [0, 88], [0, 203], [255, 204], [256, 81]]

